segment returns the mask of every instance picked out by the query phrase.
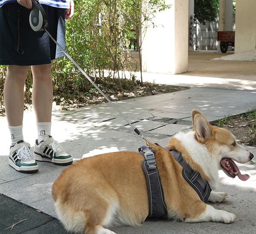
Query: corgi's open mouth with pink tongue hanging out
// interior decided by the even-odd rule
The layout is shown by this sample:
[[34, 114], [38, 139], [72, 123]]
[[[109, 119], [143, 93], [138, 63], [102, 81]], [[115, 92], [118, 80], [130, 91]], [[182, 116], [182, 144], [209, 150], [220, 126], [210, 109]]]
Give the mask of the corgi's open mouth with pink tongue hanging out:
[[247, 174], [242, 175], [236, 163], [230, 158], [221, 160], [221, 168], [223, 168], [227, 172], [227, 174], [232, 178], [238, 176], [238, 178], [243, 181], [250, 178], [250, 176]]

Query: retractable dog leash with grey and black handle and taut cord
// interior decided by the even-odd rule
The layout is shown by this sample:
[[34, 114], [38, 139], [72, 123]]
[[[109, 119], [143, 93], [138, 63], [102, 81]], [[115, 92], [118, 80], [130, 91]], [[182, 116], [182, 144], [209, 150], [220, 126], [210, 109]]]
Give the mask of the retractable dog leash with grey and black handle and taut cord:
[[125, 119], [125, 121], [134, 129], [134, 132], [137, 133], [142, 139], [144, 139], [146, 142], [148, 142], [148, 139], [143, 136], [140, 131], [134, 127], [130, 121], [122, 114], [122, 112], [113, 104], [112, 101], [109, 100], [109, 98], [102, 92], [102, 90], [99, 89], [99, 87], [90, 79], [90, 77], [84, 72], [83, 69], [73, 60], [73, 58], [70, 57], [70, 55], [58, 44], [58, 42], [50, 35], [50, 33], [46, 30], [48, 26], [46, 13], [44, 11], [44, 8], [41, 6], [41, 4], [36, 1], [32, 0], [33, 9], [31, 13], [29, 14], [29, 24], [31, 28], [35, 32], [45, 31], [49, 35], [50, 38], [56, 43], [56, 45], [61, 49], [61, 51], [67, 56], [67, 58], [70, 59], [70, 61], [79, 69], [79, 71], [90, 81], [91, 84], [106, 98], [106, 100], [112, 105], [112, 107], [122, 116], [122, 118]]

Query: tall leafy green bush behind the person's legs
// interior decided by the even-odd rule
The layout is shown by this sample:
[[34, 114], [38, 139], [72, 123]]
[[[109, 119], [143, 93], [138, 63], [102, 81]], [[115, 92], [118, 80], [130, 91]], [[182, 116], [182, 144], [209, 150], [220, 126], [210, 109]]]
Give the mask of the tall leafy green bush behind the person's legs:
[[[154, 14], [169, 8], [164, 0], [74, 0], [75, 14], [66, 20], [66, 49], [74, 61], [99, 87], [124, 91], [137, 85], [135, 73], [142, 69], [140, 46]], [[135, 33], [135, 34], [134, 34]], [[133, 65], [130, 38], [137, 39], [139, 65]], [[2, 66], [0, 89], [6, 76]], [[130, 72], [126, 77], [126, 72]], [[57, 104], [81, 102], [96, 92], [93, 85], [67, 57], [52, 65], [54, 99]], [[142, 84], [142, 77], [140, 83]], [[31, 104], [32, 74], [26, 80], [25, 101]], [[3, 95], [1, 108], [3, 106]]]

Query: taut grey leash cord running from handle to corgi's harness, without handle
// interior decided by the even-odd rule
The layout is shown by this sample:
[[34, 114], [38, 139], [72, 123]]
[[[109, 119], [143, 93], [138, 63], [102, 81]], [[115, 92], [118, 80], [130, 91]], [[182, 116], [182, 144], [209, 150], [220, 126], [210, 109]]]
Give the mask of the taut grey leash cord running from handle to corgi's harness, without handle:
[[116, 111], [120, 114], [120, 116], [122, 116], [125, 121], [133, 128], [134, 132], [137, 133], [142, 139], [144, 139], [146, 142], [148, 142], [148, 139], [145, 138], [145, 136], [143, 136], [140, 131], [135, 128], [130, 121], [128, 121], [128, 119], [122, 114], [122, 112], [113, 104], [112, 101], [109, 100], [109, 98], [104, 94], [104, 92], [102, 92], [102, 90], [99, 89], [99, 87], [90, 79], [90, 77], [84, 72], [83, 69], [81, 69], [81, 67], [73, 60], [73, 58], [70, 57], [70, 55], [60, 46], [60, 44], [52, 37], [52, 35], [50, 35], [50, 33], [44, 29], [45, 32], [47, 32], [47, 34], [49, 35], [50, 38], [52, 38], [52, 40], [55, 42], [55, 44], [61, 49], [61, 51], [67, 56], [67, 58], [70, 59], [70, 61], [75, 64], [75, 66], [79, 69], [80, 72], [82, 72], [82, 74], [93, 84], [93, 86], [103, 95], [104, 98], [107, 99], [107, 101], [112, 105], [113, 108], [116, 109]]

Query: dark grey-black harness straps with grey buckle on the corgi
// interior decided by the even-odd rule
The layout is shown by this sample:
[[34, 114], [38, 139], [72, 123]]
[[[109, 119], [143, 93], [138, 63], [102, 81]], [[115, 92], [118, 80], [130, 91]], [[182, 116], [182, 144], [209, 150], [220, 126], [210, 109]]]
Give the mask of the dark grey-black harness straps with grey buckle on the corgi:
[[[198, 172], [190, 168], [190, 166], [183, 159], [181, 153], [169, 148], [166, 148], [166, 150], [169, 150], [174, 156], [175, 160], [183, 167], [183, 178], [186, 179], [189, 185], [191, 185], [192, 188], [197, 192], [200, 199], [206, 203], [212, 191], [209, 183], [204, 181]], [[154, 150], [146, 145], [141, 145], [139, 152], [145, 157], [145, 161], [142, 162], [142, 168], [144, 170], [148, 185], [149, 214], [147, 218], [168, 219], [169, 217], [166, 204], [164, 202], [163, 188], [161, 186], [161, 180], [157, 170], [157, 163], [154, 157]]]

